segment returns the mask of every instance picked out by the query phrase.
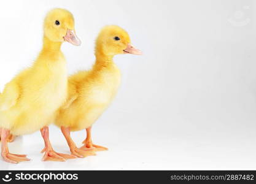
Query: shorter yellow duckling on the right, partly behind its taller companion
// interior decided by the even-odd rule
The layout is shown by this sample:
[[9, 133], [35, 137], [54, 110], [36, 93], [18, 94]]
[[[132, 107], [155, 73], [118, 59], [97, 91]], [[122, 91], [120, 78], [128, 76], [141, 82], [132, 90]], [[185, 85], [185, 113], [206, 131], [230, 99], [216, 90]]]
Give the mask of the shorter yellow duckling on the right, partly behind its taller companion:
[[[93, 144], [91, 126], [104, 112], [117, 93], [120, 71], [113, 58], [118, 54], [142, 55], [131, 45], [128, 33], [119, 26], [104, 27], [96, 39], [96, 61], [90, 71], [80, 71], [68, 80], [68, 100], [56, 115], [55, 125], [61, 128], [72, 155], [83, 158], [95, 151], [107, 150]], [[86, 129], [83, 146], [76, 147], [70, 131]]]

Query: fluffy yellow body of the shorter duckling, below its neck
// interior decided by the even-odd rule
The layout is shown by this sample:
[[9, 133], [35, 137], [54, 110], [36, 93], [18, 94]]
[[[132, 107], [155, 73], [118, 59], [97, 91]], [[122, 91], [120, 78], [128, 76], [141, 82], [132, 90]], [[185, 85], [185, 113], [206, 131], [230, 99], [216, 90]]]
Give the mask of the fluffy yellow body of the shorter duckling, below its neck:
[[120, 71], [113, 61], [106, 65], [96, 61], [93, 69], [69, 77], [69, 98], [77, 99], [68, 109], [60, 109], [56, 125], [79, 131], [93, 125], [117, 93]]

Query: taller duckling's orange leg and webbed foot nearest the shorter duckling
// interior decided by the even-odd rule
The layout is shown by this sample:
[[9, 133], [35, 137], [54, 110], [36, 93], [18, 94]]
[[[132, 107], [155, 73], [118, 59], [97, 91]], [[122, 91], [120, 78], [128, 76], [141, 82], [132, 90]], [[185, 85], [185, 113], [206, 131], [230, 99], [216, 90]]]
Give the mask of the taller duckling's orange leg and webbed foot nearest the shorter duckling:
[[41, 153], [45, 152], [44, 157], [42, 158], [42, 161], [65, 161], [66, 159], [76, 158], [76, 156], [57, 153], [53, 150], [49, 140], [48, 126], [41, 128], [41, 134], [42, 134], [42, 137], [44, 138], [44, 144], [45, 144], [44, 149], [41, 151]]

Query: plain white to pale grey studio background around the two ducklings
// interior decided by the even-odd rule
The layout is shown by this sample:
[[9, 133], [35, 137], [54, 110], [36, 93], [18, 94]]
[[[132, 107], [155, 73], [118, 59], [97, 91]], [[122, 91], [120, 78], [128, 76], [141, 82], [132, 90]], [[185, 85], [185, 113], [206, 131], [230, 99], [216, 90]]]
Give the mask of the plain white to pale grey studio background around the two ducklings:
[[[256, 169], [255, 2], [1, 1], [0, 86], [29, 66], [42, 45], [45, 13], [62, 7], [76, 19], [80, 47], [63, 44], [69, 73], [88, 69], [104, 25], [126, 29], [143, 56], [120, 55], [122, 86], [93, 126], [109, 148], [65, 163], [42, 162], [40, 132], [9, 144], [32, 161], [0, 169]], [[85, 131], [72, 137], [82, 145]], [[50, 126], [56, 151], [69, 153]]]

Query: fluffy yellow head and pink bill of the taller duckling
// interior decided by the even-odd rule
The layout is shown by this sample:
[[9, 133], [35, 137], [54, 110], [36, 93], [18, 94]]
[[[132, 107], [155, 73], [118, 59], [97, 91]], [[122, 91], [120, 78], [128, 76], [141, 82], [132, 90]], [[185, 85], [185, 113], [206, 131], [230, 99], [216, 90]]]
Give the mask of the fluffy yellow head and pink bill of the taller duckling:
[[74, 30], [74, 17], [64, 9], [53, 9], [44, 20], [44, 36], [53, 42], [67, 41], [73, 45], [81, 44]]

